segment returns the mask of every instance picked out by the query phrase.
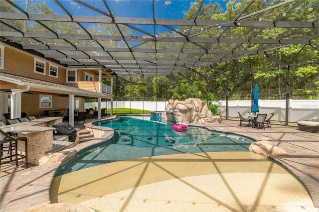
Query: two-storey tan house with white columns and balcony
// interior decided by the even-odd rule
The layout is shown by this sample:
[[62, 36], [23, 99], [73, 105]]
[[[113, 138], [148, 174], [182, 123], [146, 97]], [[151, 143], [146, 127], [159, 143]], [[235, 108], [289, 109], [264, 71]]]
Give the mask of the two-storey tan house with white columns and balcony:
[[[111, 85], [102, 84], [102, 78], [111, 78]], [[101, 101], [109, 99], [112, 103], [113, 97], [113, 77], [106, 69], [67, 68], [57, 61], [0, 43], [2, 121], [8, 116], [21, 117], [21, 112], [28, 116], [47, 116], [59, 111], [68, 112], [69, 123], [74, 125], [74, 110], [85, 111], [85, 99], [98, 99], [99, 119]]]

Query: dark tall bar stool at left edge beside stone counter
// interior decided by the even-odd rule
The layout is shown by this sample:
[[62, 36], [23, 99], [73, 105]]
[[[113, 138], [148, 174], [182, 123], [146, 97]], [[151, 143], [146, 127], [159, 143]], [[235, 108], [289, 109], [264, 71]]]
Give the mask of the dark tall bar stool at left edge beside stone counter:
[[[5, 163], [10, 163], [15, 161], [15, 165], [18, 165], [18, 160], [25, 159], [25, 168], [28, 168], [28, 147], [27, 147], [27, 138], [26, 137], [20, 137], [20, 136], [15, 136], [15, 135], [9, 135], [5, 132], [3, 132], [0, 129], [0, 135], [1, 135], [1, 140], [0, 140], [0, 152], [1, 152], [1, 157], [0, 157], [0, 165], [5, 164]], [[25, 147], [25, 155], [18, 154], [17, 151], [17, 143], [18, 141], [24, 141], [24, 147]], [[3, 156], [3, 144], [8, 144], [9, 149], [8, 149], [8, 156]], [[15, 145], [15, 148], [12, 149], [12, 146]], [[12, 153], [13, 150], [15, 150], [15, 153]], [[9, 159], [9, 160], [5, 160]], [[3, 160], [5, 160], [3, 162]]]

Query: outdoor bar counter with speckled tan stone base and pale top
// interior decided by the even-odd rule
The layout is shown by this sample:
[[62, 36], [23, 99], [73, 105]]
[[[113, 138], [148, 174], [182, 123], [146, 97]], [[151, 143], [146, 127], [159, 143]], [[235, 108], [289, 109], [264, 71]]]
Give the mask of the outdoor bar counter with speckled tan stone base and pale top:
[[[53, 125], [61, 123], [63, 117], [44, 117], [36, 120], [0, 127], [4, 132], [16, 132], [28, 140], [28, 163], [39, 165], [46, 152], [53, 147]], [[24, 142], [18, 141], [18, 152], [24, 152]]]

